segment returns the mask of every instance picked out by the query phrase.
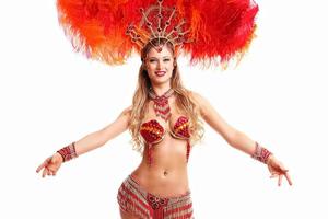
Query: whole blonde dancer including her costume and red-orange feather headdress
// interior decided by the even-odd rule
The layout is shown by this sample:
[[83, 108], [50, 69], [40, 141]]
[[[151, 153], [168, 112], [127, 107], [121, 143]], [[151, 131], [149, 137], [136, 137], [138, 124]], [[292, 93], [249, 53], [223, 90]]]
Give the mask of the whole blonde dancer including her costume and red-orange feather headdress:
[[[72, 43], [80, 37], [81, 44], [74, 45], [78, 50], [116, 64], [140, 48], [141, 66], [131, 106], [108, 126], [46, 159], [36, 170], [43, 177], [56, 175], [62, 162], [129, 130], [142, 160], [118, 189], [121, 218], [190, 219], [194, 209], [187, 166], [206, 122], [229, 145], [266, 163], [279, 185], [283, 177], [292, 184], [286, 168], [269, 150], [230, 126], [200, 94], [184, 88], [177, 66], [180, 49], [189, 51], [194, 60], [220, 56], [224, 61], [247, 47], [257, 5], [248, 0], [192, 2], [171, 1], [175, 7], [168, 7], [163, 0], [156, 5], [138, 0], [58, 0], [60, 22], [72, 34]], [[131, 41], [126, 41], [122, 26], [140, 19], [136, 7], [149, 8], [140, 9], [140, 25], [127, 26]], [[183, 27], [186, 25], [189, 28]]]

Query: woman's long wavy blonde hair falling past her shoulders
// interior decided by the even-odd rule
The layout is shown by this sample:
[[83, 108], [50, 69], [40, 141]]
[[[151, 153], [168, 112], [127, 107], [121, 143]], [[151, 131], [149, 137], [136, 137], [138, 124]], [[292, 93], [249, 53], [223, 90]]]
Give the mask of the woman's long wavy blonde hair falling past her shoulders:
[[200, 141], [203, 136], [203, 124], [200, 118], [200, 110], [198, 104], [192, 100], [191, 92], [184, 88], [178, 66], [176, 64], [176, 57], [174, 53], [174, 46], [165, 38], [154, 39], [147, 44], [141, 50], [141, 66], [139, 69], [138, 84], [132, 100], [132, 110], [129, 123], [129, 131], [132, 136], [133, 149], [142, 152], [143, 140], [139, 134], [141, 123], [148, 110], [150, 102], [149, 91], [151, 88], [151, 81], [145, 69], [145, 58], [149, 50], [153, 46], [166, 46], [174, 56], [174, 69], [171, 78], [171, 87], [175, 91], [177, 110], [189, 118], [190, 128], [190, 145], [194, 146]]

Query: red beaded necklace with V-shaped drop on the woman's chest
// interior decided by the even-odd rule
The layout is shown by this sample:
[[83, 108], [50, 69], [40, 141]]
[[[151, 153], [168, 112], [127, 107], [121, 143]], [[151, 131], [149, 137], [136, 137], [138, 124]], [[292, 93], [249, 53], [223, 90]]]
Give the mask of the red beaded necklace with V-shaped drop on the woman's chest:
[[171, 117], [168, 97], [172, 96], [174, 90], [169, 89], [163, 95], [159, 96], [155, 94], [155, 92], [152, 89], [149, 91], [149, 96], [151, 97], [152, 101], [154, 101], [154, 111], [156, 116], [160, 116], [165, 122], [167, 122], [168, 118]]

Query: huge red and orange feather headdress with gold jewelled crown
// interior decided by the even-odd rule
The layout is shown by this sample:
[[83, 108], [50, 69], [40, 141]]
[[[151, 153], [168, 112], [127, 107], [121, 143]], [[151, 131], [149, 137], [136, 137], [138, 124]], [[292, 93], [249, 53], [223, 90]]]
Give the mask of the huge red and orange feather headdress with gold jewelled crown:
[[77, 51], [109, 65], [166, 38], [191, 62], [225, 64], [254, 37], [253, 0], [57, 0], [59, 22]]

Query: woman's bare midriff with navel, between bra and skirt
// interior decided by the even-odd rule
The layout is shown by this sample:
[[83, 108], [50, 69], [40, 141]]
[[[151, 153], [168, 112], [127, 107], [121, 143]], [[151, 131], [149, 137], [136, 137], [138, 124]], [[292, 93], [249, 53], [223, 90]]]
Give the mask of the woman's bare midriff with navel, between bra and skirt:
[[176, 197], [189, 191], [186, 140], [174, 139], [166, 132], [163, 141], [153, 146], [153, 163], [149, 165], [147, 151], [132, 177], [148, 193], [160, 197]]

